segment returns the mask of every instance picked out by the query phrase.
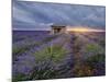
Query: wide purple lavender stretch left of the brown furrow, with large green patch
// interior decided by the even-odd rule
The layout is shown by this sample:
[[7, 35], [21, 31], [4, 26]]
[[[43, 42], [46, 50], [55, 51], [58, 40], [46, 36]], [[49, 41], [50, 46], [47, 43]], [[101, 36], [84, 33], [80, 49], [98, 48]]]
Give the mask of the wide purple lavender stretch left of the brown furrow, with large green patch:
[[73, 54], [67, 35], [13, 32], [13, 81], [73, 77]]

